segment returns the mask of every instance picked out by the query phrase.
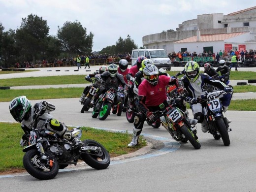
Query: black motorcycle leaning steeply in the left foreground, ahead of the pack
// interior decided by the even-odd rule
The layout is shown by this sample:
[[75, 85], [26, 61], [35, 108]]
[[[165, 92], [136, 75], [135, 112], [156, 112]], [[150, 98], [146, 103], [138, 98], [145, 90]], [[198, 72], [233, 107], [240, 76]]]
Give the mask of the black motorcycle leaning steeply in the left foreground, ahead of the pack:
[[[25, 152], [23, 165], [29, 174], [39, 180], [53, 179], [57, 176], [59, 169], [63, 169], [69, 164], [76, 165], [78, 160], [85, 161], [95, 169], [108, 167], [110, 164], [109, 153], [103, 145], [95, 140], [84, 140], [81, 148], [75, 148], [70, 141], [59, 137], [53, 131], [33, 128], [39, 114], [40, 111], [37, 110], [32, 122], [29, 145], [23, 149]], [[64, 127], [67, 128], [65, 125]], [[82, 130], [80, 128], [73, 128], [71, 132], [78, 139], [81, 138]]]

